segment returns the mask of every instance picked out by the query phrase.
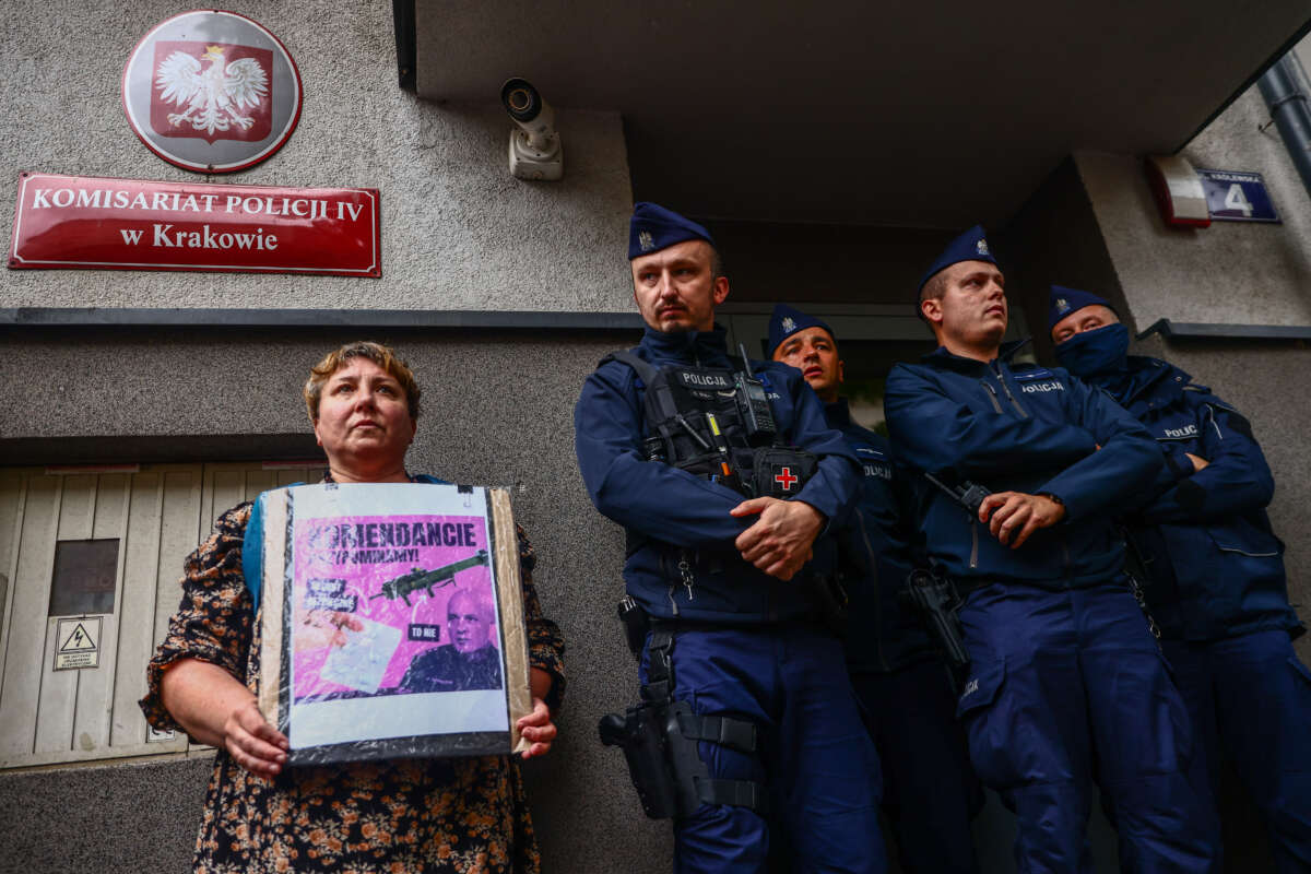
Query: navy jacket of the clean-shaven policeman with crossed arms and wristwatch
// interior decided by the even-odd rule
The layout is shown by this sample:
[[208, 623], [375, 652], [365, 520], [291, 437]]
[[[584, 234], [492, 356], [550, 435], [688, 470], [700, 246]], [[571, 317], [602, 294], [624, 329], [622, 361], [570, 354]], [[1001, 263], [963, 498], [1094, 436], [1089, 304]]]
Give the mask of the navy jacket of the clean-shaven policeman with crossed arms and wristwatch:
[[928, 554], [965, 588], [1072, 588], [1120, 574], [1124, 540], [1110, 511], [1162, 465], [1146, 428], [1105, 392], [1062, 368], [1009, 364], [1025, 342], [1004, 343], [988, 363], [940, 347], [888, 376], [888, 428], [907, 466], [990, 491], [1046, 493], [1065, 504], [1061, 523], [1011, 549], [945, 493], [926, 489]]

